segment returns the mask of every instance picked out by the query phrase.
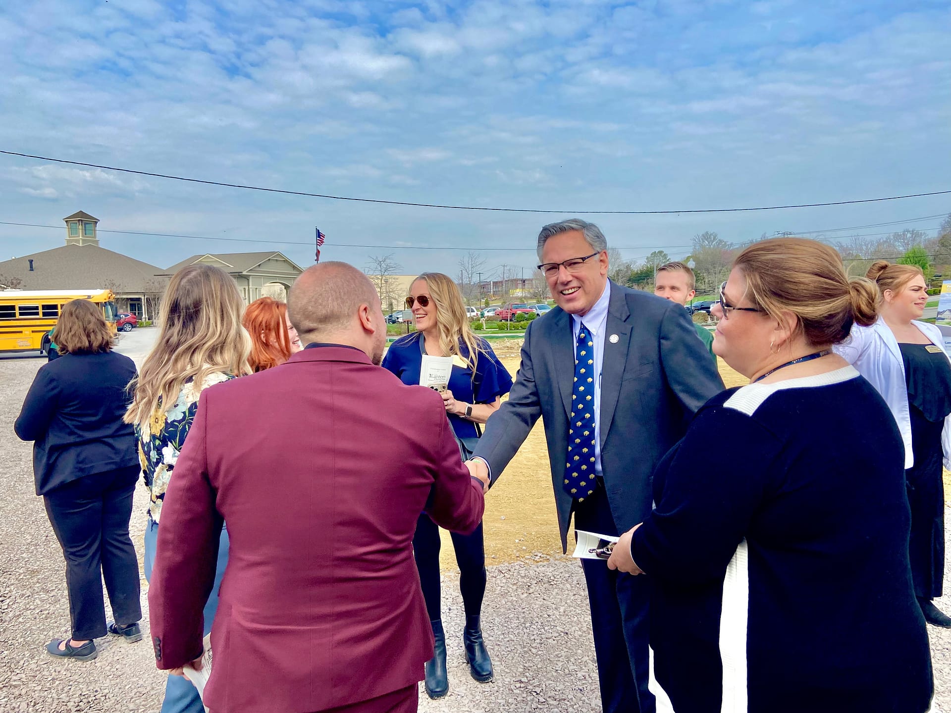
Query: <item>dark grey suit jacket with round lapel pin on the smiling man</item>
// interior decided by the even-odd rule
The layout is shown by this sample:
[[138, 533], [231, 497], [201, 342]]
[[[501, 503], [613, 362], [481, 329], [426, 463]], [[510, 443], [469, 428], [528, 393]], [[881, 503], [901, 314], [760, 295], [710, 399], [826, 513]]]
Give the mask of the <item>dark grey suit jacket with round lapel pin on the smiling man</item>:
[[[614, 524], [625, 532], [650, 513], [651, 476], [661, 456], [707, 399], [723, 390], [723, 381], [687, 310], [670, 299], [611, 282], [605, 331], [601, 469]], [[489, 418], [473, 453], [486, 460], [495, 482], [542, 417], [566, 551], [572, 498], [562, 480], [573, 378], [572, 318], [555, 307], [525, 331], [509, 400]]]

